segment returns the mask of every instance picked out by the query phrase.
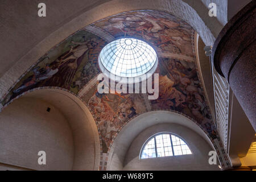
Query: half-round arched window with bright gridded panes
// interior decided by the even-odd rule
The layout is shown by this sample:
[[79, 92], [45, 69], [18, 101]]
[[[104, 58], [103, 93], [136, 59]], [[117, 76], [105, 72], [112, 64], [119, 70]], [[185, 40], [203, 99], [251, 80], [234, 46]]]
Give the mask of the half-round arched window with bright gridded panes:
[[192, 154], [183, 139], [171, 133], [160, 133], [149, 138], [141, 151], [141, 159]]

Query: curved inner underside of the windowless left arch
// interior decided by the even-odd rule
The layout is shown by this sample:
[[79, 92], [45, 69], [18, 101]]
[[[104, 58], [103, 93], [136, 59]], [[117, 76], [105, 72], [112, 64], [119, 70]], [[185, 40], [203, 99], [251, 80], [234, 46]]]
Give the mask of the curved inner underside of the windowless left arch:
[[100, 168], [100, 137], [90, 111], [79, 98], [59, 89], [39, 89], [24, 97], [44, 100], [61, 110], [72, 130], [73, 170]]

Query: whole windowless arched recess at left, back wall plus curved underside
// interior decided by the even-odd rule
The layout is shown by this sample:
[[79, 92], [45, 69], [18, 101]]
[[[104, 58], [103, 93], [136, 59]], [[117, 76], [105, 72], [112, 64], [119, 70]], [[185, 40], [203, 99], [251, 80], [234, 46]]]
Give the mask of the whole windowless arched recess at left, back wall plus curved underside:
[[[50, 112], [47, 112], [50, 107]], [[100, 138], [92, 115], [73, 94], [39, 89], [0, 113], [0, 170], [98, 170]], [[38, 165], [38, 151], [47, 165]]]

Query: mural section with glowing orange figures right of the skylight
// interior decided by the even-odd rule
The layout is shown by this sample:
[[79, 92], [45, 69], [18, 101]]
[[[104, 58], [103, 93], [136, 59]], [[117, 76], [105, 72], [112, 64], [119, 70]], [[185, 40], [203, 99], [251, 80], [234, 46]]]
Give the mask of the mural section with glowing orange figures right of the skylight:
[[[158, 69], [159, 99], [151, 101], [154, 109], [171, 109], [195, 119], [213, 135], [212, 120], [204, 101], [203, 90], [196, 75], [194, 63], [181, 60], [161, 59]], [[163, 74], [164, 73], [164, 74]]]

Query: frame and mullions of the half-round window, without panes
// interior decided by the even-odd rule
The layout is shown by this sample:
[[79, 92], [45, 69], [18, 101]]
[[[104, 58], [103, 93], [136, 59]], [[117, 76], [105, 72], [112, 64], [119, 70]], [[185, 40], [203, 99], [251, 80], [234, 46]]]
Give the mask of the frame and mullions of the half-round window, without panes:
[[[170, 156], [158, 156], [157, 154], [157, 150], [156, 150], [156, 139], [155, 137], [157, 137], [158, 135], [163, 135], [163, 134], [168, 134], [170, 135], [170, 140], [171, 140], [171, 148], [172, 148], [172, 155]], [[170, 157], [174, 157], [174, 156], [181, 156], [181, 155], [174, 155], [174, 145], [172, 144], [172, 135], [174, 135], [175, 137], [183, 140], [183, 142], [188, 146], [189, 150], [191, 151], [191, 154], [182, 154], [182, 155], [193, 155], [193, 152], [191, 150], [191, 147], [189, 147], [189, 145], [187, 144], [186, 140], [184, 140], [182, 137], [180, 137], [179, 135], [177, 134], [174, 134], [174, 133], [171, 133], [171, 132], [168, 132], [168, 131], [163, 131], [163, 132], [159, 132], [159, 133], [156, 133], [154, 135], [151, 135], [151, 137], [149, 137], [142, 145], [142, 148], [141, 148], [141, 151], [139, 152], [139, 160], [144, 160], [144, 159], [158, 159], [158, 158], [170, 158]], [[142, 156], [142, 152], [144, 150], [144, 148], [147, 146], [147, 143], [152, 139], [154, 138], [154, 143], [155, 143], [155, 157], [152, 157], [152, 158], [141, 158]], [[182, 150], [181, 150], [182, 151]]]

